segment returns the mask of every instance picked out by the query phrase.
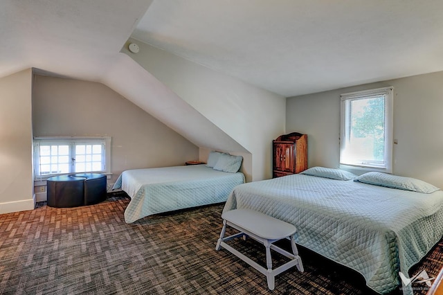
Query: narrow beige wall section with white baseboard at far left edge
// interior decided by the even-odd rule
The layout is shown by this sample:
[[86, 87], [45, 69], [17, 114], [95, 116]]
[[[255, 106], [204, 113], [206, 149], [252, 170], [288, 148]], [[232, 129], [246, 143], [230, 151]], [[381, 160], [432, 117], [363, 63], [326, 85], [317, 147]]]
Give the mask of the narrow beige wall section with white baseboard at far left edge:
[[0, 214], [35, 207], [32, 85], [30, 69], [0, 78]]

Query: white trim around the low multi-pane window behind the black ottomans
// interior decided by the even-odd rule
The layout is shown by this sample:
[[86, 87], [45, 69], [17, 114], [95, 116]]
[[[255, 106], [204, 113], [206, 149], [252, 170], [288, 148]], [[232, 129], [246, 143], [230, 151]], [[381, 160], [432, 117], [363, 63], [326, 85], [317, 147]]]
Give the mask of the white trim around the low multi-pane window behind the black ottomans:
[[[105, 140], [105, 172], [101, 172], [104, 175], [112, 175], [111, 173], [111, 136], [36, 136], [34, 137], [33, 146], [35, 146], [38, 142], [59, 142], [63, 140], [67, 141], [93, 141], [96, 139]], [[33, 156], [33, 161], [35, 165], [35, 151]], [[71, 173], [60, 173], [57, 175], [37, 175], [34, 167], [34, 180], [35, 181], [43, 181], [48, 179], [49, 177], [57, 176], [57, 175], [70, 175]]]

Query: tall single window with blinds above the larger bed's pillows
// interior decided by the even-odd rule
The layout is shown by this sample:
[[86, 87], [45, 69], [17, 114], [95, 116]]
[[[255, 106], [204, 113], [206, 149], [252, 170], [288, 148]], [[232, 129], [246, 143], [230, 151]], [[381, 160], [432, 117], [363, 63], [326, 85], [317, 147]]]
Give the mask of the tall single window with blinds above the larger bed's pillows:
[[341, 95], [342, 168], [392, 172], [392, 90]]

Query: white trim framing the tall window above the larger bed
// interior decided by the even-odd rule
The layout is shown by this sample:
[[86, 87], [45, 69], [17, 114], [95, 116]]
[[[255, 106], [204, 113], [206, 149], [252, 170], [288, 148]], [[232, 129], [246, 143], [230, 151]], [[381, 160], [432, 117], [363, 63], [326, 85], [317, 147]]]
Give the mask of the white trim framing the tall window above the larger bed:
[[[341, 115], [340, 115], [340, 168], [346, 170], [359, 170], [360, 172], [369, 172], [369, 171], [379, 171], [392, 173], [392, 143], [393, 143], [393, 105], [394, 105], [394, 87], [383, 87], [377, 89], [363, 90], [363, 91], [355, 91], [350, 93], [341, 94]], [[365, 96], [377, 96], [377, 95], [386, 95], [386, 105], [385, 105], [385, 132], [386, 132], [386, 141], [385, 141], [385, 168], [375, 168], [364, 165], [350, 165], [341, 163], [341, 159], [343, 159], [343, 154], [345, 152], [345, 141], [346, 141], [346, 120], [347, 115], [345, 113], [346, 101], [365, 97]]]

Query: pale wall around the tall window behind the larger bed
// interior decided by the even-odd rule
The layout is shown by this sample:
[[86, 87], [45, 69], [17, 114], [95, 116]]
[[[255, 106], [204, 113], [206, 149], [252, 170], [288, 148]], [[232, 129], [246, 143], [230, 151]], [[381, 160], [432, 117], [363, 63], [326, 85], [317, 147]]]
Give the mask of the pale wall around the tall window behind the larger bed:
[[393, 174], [443, 188], [443, 72], [287, 98], [287, 131], [308, 134], [309, 167], [338, 168], [340, 94], [394, 87]]

